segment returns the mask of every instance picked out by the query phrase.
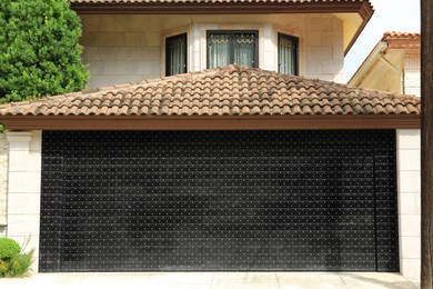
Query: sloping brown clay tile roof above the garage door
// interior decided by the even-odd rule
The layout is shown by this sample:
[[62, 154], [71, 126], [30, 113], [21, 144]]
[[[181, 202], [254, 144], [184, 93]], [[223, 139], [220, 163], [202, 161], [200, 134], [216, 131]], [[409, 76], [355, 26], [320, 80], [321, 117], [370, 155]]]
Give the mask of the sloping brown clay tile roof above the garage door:
[[412, 96], [229, 66], [3, 104], [0, 116], [420, 114], [420, 107]]

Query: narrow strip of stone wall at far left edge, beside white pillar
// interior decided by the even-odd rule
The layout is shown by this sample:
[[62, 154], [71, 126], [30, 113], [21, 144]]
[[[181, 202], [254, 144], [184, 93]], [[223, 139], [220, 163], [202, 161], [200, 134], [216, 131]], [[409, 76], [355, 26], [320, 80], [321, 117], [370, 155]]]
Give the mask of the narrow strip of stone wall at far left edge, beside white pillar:
[[0, 237], [6, 237], [8, 203], [8, 159], [9, 144], [4, 133], [0, 133]]

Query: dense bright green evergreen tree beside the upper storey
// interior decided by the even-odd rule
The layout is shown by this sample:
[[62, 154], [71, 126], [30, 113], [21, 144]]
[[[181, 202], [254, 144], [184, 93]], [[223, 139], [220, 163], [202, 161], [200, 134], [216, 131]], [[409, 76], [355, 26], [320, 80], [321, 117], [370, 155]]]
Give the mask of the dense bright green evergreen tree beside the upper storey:
[[0, 102], [84, 89], [80, 36], [67, 0], [0, 0]]

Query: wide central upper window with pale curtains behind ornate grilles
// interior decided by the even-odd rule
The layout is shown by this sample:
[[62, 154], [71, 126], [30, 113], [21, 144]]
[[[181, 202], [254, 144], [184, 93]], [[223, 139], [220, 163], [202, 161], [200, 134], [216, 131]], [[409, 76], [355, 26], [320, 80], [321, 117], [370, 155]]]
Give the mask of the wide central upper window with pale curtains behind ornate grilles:
[[208, 68], [231, 63], [256, 68], [258, 31], [208, 31]]

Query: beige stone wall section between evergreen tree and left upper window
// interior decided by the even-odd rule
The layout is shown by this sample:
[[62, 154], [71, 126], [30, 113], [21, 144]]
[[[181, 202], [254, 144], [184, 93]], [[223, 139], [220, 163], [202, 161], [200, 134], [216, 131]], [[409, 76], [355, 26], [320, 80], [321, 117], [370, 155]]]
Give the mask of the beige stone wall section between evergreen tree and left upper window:
[[161, 30], [152, 18], [81, 16], [88, 88], [160, 77]]

